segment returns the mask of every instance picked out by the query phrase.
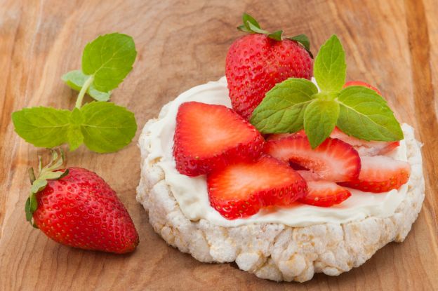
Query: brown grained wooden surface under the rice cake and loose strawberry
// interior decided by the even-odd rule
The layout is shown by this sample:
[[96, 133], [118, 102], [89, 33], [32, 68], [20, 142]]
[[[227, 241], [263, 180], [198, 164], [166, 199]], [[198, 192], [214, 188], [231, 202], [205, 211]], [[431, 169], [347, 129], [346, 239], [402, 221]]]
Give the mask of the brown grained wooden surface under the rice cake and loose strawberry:
[[[0, 290], [438, 290], [437, 0], [393, 1], [20, 1], [0, 0]], [[372, 83], [397, 117], [423, 140], [426, 198], [404, 243], [338, 277], [303, 284], [261, 280], [233, 264], [202, 264], [154, 234], [135, 201], [136, 140], [117, 154], [84, 147], [68, 165], [98, 172], [117, 191], [140, 234], [131, 255], [66, 248], [25, 222], [26, 170], [45, 151], [13, 132], [11, 112], [34, 105], [74, 107], [60, 80], [79, 69], [82, 48], [98, 34], [131, 34], [133, 72], [114, 102], [135, 112], [139, 128], [163, 104], [224, 74], [225, 55], [241, 35], [241, 13], [266, 29], [310, 36], [312, 50], [336, 33], [348, 79]]]

